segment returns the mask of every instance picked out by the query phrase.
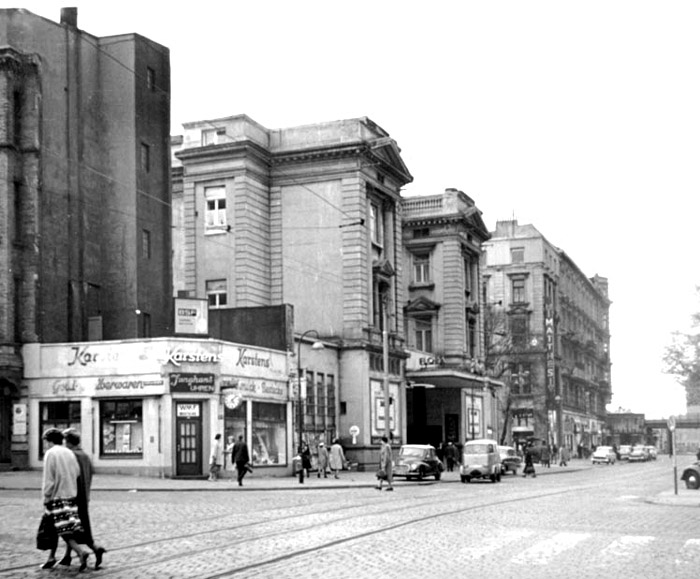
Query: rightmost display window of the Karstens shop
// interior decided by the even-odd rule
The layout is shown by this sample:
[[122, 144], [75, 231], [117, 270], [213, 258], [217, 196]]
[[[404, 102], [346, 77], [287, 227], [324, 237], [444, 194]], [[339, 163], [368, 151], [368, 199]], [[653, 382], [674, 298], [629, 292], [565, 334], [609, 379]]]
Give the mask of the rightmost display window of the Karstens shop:
[[285, 404], [253, 402], [254, 465], [287, 464], [287, 407]]

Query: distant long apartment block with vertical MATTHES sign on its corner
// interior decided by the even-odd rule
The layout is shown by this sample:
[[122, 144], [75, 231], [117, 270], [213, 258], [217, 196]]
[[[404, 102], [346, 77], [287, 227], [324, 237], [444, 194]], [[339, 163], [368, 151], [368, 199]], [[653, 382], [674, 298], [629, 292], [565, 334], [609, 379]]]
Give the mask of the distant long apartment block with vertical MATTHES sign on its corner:
[[508, 334], [498, 356], [508, 365], [509, 438], [572, 450], [600, 444], [611, 398], [607, 279], [586, 277], [517, 220], [499, 221], [483, 247], [484, 299]]

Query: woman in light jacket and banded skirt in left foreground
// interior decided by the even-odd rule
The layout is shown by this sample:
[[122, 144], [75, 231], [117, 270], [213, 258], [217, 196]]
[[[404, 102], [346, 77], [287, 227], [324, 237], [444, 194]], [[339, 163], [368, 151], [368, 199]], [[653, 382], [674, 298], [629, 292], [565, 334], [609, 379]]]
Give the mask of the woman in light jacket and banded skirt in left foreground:
[[[84, 542], [77, 502], [80, 465], [73, 451], [63, 446], [63, 433], [58, 428], [49, 428], [42, 438], [48, 446], [44, 453], [42, 478], [44, 512], [51, 516], [56, 534], [78, 554], [78, 570], [84, 571], [90, 553], [78, 544], [79, 541]], [[41, 568], [51, 569], [54, 565], [55, 547]]]

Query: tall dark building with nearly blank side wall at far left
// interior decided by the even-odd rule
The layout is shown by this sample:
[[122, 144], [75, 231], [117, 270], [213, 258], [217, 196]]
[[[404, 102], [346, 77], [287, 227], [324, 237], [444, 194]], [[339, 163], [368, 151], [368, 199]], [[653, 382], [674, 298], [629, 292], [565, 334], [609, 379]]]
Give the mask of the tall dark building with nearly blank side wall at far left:
[[80, 30], [75, 8], [0, 24], [0, 463], [22, 466], [28, 425], [40, 441], [93, 413], [29, 392], [23, 345], [171, 331], [170, 64], [141, 36]]

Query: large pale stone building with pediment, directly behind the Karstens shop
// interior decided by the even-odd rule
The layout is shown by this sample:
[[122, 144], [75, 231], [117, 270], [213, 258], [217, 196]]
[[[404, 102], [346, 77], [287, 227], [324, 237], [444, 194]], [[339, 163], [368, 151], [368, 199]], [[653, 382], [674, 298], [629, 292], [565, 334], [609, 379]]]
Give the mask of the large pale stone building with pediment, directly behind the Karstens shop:
[[240, 392], [244, 403], [224, 411], [226, 434], [246, 431], [256, 450], [274, 417], [312, 448], [339, 436], [353, 460], [376, 461], [385, 319], [395, 442], [405, 432], [399, 205], [412, 177], [396, 143], [367, 118], [271, 130], [239, 115], [186, 123], [173, 153], [178, 295], [212, 309], [294, 311], [303, 423], [284, 400]]

